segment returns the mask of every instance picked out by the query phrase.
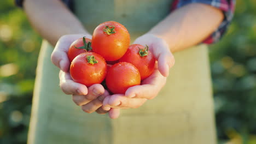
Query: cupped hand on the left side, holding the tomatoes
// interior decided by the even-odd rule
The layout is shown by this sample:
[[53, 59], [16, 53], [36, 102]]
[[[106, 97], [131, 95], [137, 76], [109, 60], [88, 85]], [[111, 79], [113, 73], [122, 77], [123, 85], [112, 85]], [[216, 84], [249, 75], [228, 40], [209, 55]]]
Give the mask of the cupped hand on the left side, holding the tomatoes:
[[74, 34], [74, 35], [64, 35], [57, 42], [55, 49], [51, 55], [51, 61], [60, 68], [60, 87], [62, 91], [66, 94], [72, 94], [72, 98], [75, 104], [82, 107], [82, 110], [87, 113], [92, 113], [96, 111], [97, 113], [104, 114], [109, 112], [110, 118], [115, 118], [110, 107], [102, 108], [102, 100], [106, 95], [109, 95], [108, 91], [103, 88], [100, 84], [95, 84], [89, 88], [80, 83], [74, 82], [68, 72], [69, 70], [69, 59], [67, 52], [69, 46], [73, 43], [74, 40], [77, 40], [82, 37], [90, 38], [91, 35], [86, 34]]

